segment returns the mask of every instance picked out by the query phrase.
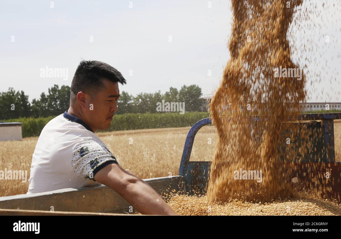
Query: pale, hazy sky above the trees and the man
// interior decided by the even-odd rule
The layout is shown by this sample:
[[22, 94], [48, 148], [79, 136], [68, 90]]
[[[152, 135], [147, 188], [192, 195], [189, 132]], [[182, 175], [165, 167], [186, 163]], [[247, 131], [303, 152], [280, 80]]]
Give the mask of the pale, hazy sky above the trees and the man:
[[[203, 94], [211, 94], [219, 86], [229, 59], [230, 1], [212, 0], [211, 7], [200, 0], [54, 1], [53, 8], [50, 2], [0, 1], [0, 92], [13, 87], [32, 101], [54, 84], [70, 86], [81, 59], [117, 68], [127, 80], [120, 91], [133, 95], [165, 93], [170, 86], [180, 89], [184, 84], [197, 84]], [[333, 2], [338, 1], [328, 0], [328, 4]], [[308, 24], [310, 33], [298, 32], [292, 39], [299, 46], [299, 39], [312, 38], [318, 51], [307, 54], [300, 47], [293, 59], [301, 62], [307, 55], [317, 56], [311, 67], [326, 72], [322, 67], [327, 62], [328, 73], [337, 78], [330, 83], [331, 76], [323, 74], [322, 83], [314, 85], [318, 92], [325, 88], [323, 95], [311, 91], [308, 101], [324, 101], [321, 96], [341, 101], [337, 93], [341, 88], [341, 17], [332, 14], [337, 12], [333, 8], [319, 9], [323, 15], [313, 21], [326, 26], [317, 31]], [[327, 44], [326, 34], [330, 35]], [[41, 78], [40, 69], [46, 66], [68, 68], [68, 79]], [[133, 76], [129, 76], [131, 71]]]

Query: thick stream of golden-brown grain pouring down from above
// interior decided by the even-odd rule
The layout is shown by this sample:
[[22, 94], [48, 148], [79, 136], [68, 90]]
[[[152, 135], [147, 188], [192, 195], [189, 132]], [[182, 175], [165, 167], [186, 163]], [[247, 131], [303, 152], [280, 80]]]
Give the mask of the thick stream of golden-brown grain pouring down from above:
[[[299, 134], [304, 139], [309, 134], [298, 124], [287, 124], [297, 121], [299, 102], [306, 100], [305, 76], [279, 78], [274, 71], [300, 68], [292, 62], [287, 30], [290, 24], [295, 26], [293, 14], [302, 1], [289, 2], [290, 7], [287, 0], [232, 0], [231, 59], [210, 104], [218, 145], [207, 201], [237, 198], [264, 203], [295, 196], [316, 198], [329, 190], [324, 187], [328, 179], [319, 173], [323, 164], [310, 174], [312, 181], [318, 182], [316, 187], [302, 190], [286, 179], [296, 170], [297, 155], [304, 157], [307, 147], [305, 141], [298, 144], [295, 137]], [[285, 157], [281, 158], [279, 146], [285, 145], [285, 132], [292, 132], [292, 143], [286, 144]], [[308, 169], [309, 165], [302, 167]], [[240, 180], [239, 170], [262, 172], [262, 180]]]

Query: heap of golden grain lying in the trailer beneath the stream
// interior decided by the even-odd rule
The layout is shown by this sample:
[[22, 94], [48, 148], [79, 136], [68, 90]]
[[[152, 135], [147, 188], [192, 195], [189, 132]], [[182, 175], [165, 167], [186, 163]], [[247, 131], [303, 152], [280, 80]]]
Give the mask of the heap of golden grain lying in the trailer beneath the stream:
[[206, 195], [184, 195], [175, 190], [163, 195], [182, 216], [341, 216], [341, 206], [331, 200], [286, 198], [268, 203], [228, 200], [208, 202]]

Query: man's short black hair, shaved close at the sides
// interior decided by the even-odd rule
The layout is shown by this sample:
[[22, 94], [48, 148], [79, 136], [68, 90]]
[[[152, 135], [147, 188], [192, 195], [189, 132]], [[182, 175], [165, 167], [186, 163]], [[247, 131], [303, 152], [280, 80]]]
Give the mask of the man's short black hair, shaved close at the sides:
[[70, 102], [77, 98], [78, 92], [95, 95], [104, 87], [103, 80], [126, 84], [122, 74], [114, 67], [101, 61], [81, 61], [71, 83]]

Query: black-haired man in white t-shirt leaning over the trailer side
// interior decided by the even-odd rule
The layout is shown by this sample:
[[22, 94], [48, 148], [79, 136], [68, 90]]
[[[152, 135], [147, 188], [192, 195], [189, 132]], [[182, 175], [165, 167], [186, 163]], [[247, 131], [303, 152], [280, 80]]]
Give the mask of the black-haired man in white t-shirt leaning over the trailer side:
[[177, 215], [145, 181], [126, 171], [94, 133], [109, 128], [126, 81], [114, 67], [81, 61], [71, 83], [70, 108], [43, 128], [27, 193], [104, 184], [142, 214]]

